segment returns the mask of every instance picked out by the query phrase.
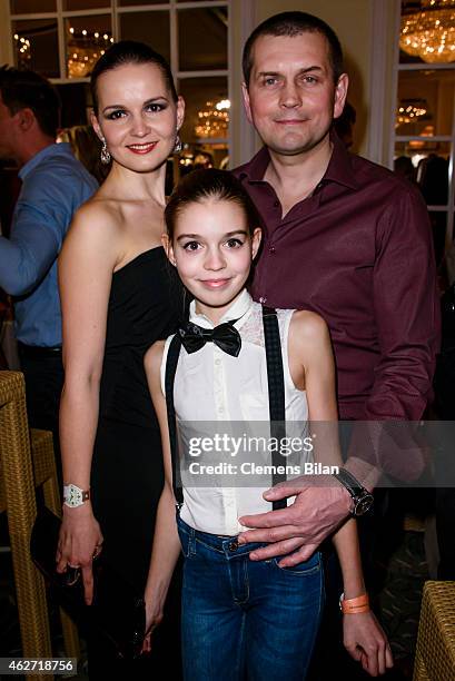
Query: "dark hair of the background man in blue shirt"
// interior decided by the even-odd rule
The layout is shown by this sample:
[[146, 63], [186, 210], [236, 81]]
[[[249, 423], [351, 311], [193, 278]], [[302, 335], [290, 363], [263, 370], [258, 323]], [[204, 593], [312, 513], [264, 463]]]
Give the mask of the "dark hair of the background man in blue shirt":
[[0, 67], [0, 93], [13, 116], [21, 109], [31, 109], [44, 135], [57, 136], [60, 126], [60, 98], [56, 88], [39, 73]]

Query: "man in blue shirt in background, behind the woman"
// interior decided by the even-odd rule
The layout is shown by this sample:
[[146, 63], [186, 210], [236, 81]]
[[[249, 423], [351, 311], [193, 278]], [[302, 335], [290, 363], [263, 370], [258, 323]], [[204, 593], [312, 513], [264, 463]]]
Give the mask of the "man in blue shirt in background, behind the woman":
[[52, 430], [63, 383], [57, 256], [96, 179], [67, 144], [56, 144], [60, 100], [32, 71], [0, 68], [0, 158], [19, 167], [10, 238], [0, 237], [0, 288], [13, 296], [16, 337], [33, 427]]

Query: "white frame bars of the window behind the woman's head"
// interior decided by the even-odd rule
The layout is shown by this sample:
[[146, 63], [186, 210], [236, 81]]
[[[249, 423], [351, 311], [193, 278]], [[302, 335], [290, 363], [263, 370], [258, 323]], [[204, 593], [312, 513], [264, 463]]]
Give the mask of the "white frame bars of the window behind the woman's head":
[[[8, 0], [8, 6], [9, 6]], [[91, 10], [75, 10], [68, 11], [63, 10], [63, 0], [56, 0], [56, 11], [55, 12], [36, 12], [29, 14], [9, 14], [10, 19], [10, 36], [12, 38], [12, 21], [21, 21], [21, 20], [33, 20], [33, 19], [57, 19], [57, 31], [58, 31], [58, 45], [59, 45], [59, 78], [51, 78], [51, 82], [58, 85], [68, 85], [76, 82], [89, 82], [89, 78], [68, 78], [66, 76], [67, 72], [67, 55], [66, 55], [66, 43], [65, 43], [65, 20], [72, 17], [85, 18], [85, 17], [99, 17], [100, 14], [110, 14], [111, 18], [111, 27], [112, 27], [112, 38], [115, 42], [119, 40], [120, 37], [120, 16], [126, 13], [138, 13], [138, 12], [148, 12], [148, 11], [169, 11], [169, 30], [170, 30], [170, 68], [176, 80], [177, 89], [179, 88], [179, 83], [181, 80], [187, 78], [210, 78], [210, 77], [225, 77], [227, 78], [227, 87], [228, 87], [228, 98], [233, 101], [233, 69], [229, 68], [233, 63], [234, 49], [233, 49], [233, 0], [205, 0], [201, 2], [178, 2], [177, 0], [169, 0], [168, 2], [161, 2], [159, 4], [135, 4], [131, 7], [121, 7], [118, 0], [110, 0], [110, 7], [101, 7], [99, 9]], [[228, 10], [228, 43], [227, 43], [227, 69], [218, 69], [218, 70], [196, 70], [196, 71], [180, 71], [178, 69], [179, 63], [179, 53], [178, 53], [178, 19], [177, 12], [178, 10], [184, 9], [204, 9], [204, 8], [212, 8], [212, 7], [226, 7]], [[11, 46], [12, 49], [12, 46]], [[240, 93], [236, 99], [240, 98]], [[233, 148], [233, 131], [231, 126], [229, 126], [229, 134], [226, 138], [207, 138], [201, 140], [204, 145], [214, 145], [214, 144], [227, 144], [228, 154], [231, 155]]]

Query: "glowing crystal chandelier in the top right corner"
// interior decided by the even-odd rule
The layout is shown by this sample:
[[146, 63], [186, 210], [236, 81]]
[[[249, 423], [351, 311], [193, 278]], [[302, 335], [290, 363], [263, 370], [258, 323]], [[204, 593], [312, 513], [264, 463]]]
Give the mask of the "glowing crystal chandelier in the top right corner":
[[421, 0], [402, 17], [399, 47], [427, 63], [455, 60], [455, 0]]

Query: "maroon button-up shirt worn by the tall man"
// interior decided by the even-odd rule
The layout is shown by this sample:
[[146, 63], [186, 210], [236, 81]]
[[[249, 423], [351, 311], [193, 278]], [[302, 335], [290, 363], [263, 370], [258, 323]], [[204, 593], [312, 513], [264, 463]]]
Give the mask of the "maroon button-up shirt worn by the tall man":
[[416, 421], [439, 330], [426, 206], [411, 184], [333, 142], [322, 182], [285, 217], [263, 180], [267, 149], [235, 170], [266, 226], [253, 295], [327, 322], [342, 418]]

